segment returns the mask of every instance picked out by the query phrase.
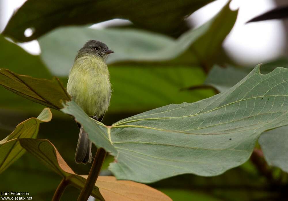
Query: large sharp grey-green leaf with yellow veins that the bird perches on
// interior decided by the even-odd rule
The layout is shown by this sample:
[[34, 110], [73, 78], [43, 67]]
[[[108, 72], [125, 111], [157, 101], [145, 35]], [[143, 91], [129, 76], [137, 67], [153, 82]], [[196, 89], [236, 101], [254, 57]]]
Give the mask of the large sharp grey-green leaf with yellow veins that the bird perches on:
[[[288, 124], [288, 69], [262, 75], [259, 67], [211, 98], [160, 107], [111, 127], [73, 101], [61, 111], [73, 115], [97, 147], [115, 148], [110, 170], [117, 179], [148, 183], [184, 173], [219, 175], [244, 163], [262, 132]], [[100, 136], [110, 144], [101, 146]]]

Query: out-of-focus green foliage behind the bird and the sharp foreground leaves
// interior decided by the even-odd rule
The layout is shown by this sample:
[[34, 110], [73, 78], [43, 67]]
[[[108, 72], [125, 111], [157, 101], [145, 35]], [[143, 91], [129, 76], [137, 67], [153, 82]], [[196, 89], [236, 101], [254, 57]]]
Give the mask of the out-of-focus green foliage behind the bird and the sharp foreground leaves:
[[[115, 51], [108, 61], [113, 94], [103, 121], [106, 125], [170, 103], [201, 100], [215, 94], [211, 86], [218, 91], [227, 90], [252, 70], [225, 64], [231, 61], [223, 56], [221, 44], [237, 16], [237, 11], [231, 11], [228, 5], [200, 28], [187, 31], [189, 26], [185, 17], [211, 1], [65, 0], [55, 3], [28, 0], [14, 13], [3, 34], [16, 41], [39, 39], [42, 54], [30, 55], [0, 36], [0, 68], [34, 78], [60, 76], [60, 81], [66, 86], [76, 51], [86, 40], [96, 39]], [[115, 17], [129, 19], [134, 24], [129, 29], [61, 27], [87, 26]], [[24, 36], [26, 28], [32, 28], [31, 37]], [[171, 36], [180, 37], [175, 40]], [[229, 67], [211, 70], [215, 63]], [[287, 68], [288, 59], [263, 65], [261, 71], [264, 73], [267, 68], [268, 73], [277, 66]], [[183, 90], [190, 87], [193, 90]], [[0, 94], [0, 139], [8, 136], [19, 122], [37, 116], [43, 109], [43, 106], [5, 88], [0, 88]], [[85, 166], [74, 162], [79, 133], [77, 125], [68, 115], [54, 109], [52, 113], [53, 119], [41, 124], [38, 138], [50, 140], [77, 174], [88, 174], [90, 164]], [[287, 165], [283, 163], [287, 161], [285, 128], [269, 131], [259, 140], [268, 163], [283, 170]], [[92, 152], [95, 150], [93, 146]], [[260, 160], [265, 164], [262, 156]], [[102, 175], [111, 174], [107, 167], [113, 161], [112, 156], [107, 156]], [[287, 174], [271, 167], [266, 170], [268, 173], [263, 172], [254, 162], [247, 162], [216, 177], [178, 175], [150, 185], [177, 201], [286, 200]], [[61, 177], [28, 153], [0, 174], [1, 191], [29, 192], [33, 200], [51, 200], [60, 181]], [[68, 186], [62, 200], [75, 200], [79, 192], [77, 188]]]

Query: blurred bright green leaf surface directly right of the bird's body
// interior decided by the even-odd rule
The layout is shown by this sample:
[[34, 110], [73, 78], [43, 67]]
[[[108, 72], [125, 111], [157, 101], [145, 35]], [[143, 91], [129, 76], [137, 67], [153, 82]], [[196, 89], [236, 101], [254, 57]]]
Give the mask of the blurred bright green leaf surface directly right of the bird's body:
[[187, 100], [194, 102], [215, 94], [213, 90], [193, 93], [180, 90], [204, 81], [206, 75], [200, 67], [109, 66], [109, 71], [113, 92], [107, 115], [128, 113], [131, 116], [131, 113]]

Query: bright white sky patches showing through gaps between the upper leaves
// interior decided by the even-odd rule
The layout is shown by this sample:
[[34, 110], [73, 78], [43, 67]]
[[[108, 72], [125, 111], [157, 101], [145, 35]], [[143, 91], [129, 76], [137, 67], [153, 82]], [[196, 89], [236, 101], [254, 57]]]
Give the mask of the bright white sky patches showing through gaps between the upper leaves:
[[[0, 31], [8, 22], [13, 11], [25, 0], [0, 0]], [[211, 19], [228, 0], [217, 0], [194, 12], [189, 20], [197, 27]], [[238, 18], [232, 32], [224, 41], [224, 48], [238, 63], [258, 64], [279, 57], [285, 48], [285, 32], [280, 20], [269, 20], [245, 24], [249, 19], [272, 9], [272, 0], [232, 0], [232, 9], [239, 9]], [[109, 20], [94, 25], [103, 28], [107, 24], [129, 23], [128, 20]], [[31, 54], [39, 54], [40, 47], [36, 40], [19, 44]]]

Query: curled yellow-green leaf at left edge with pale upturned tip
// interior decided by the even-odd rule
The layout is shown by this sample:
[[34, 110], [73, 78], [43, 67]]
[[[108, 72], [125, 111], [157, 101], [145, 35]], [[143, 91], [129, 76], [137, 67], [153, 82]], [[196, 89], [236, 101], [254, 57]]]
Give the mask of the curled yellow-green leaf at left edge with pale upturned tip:
[[0, 173], [24, 154], [25, 150], [20, 146], [18, 140], [20, 138], [36, 138], [39, 124], [48, 122], [51, 118], [50, 109], [45, 108], [37, 118], [30, 118], [18, 124], [9, 136], [0, 141]]

